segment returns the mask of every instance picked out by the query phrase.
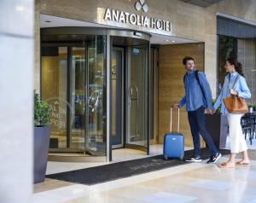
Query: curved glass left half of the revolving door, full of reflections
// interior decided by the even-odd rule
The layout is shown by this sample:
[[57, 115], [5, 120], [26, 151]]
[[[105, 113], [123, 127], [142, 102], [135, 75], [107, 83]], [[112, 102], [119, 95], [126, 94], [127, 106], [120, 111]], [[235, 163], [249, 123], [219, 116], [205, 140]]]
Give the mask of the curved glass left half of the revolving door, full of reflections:
[[105, 156], [106, 37], [86, 38], [76, 47], [42, 46], [41, 94], [50, 104], [50, 148]]

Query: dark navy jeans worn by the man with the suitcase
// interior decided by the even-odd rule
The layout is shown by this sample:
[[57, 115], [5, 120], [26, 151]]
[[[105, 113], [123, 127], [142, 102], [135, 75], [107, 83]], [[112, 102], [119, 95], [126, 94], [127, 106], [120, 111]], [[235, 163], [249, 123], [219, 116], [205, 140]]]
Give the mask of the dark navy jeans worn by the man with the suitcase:
[[188, 112], [189, 116], [189, 125], [190, 130], [193, 136], [194, 142], [194, 155], [201, 156], [201, 144], [200, 144], [200, 135], [207, 143], [211, 151], [211, 155], [215, 155], [218, 153], [218, 149], [216, 148], [214, 142], [212, 141], [212, 137], [207, 131], [206, 126], [206, 117], [205, 117], [205, 107], [200, 107], [195, 111]]

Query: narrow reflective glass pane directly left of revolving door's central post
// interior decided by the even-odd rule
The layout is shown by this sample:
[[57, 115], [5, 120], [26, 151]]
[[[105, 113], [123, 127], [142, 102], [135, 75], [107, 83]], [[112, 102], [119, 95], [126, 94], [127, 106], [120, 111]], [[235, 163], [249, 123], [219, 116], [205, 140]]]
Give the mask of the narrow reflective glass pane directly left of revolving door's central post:
[[88, 125], [86, 129], [87, 153], [106, 155], [106, 134], [103, 129], [103, 85], [104, 61], [106, 53], [106, 38], [96, 36], [88, 43], [88, 83], [87, 112]]

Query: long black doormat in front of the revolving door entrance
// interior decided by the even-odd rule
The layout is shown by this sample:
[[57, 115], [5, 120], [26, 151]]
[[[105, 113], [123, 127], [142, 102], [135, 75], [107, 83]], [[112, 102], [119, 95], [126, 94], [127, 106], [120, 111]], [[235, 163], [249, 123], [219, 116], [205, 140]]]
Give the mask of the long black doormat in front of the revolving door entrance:
[[[184, 159], [189, 159], [193, 152], [194, 150], [185, 151]], [[230, 150], [220, 150], [220, 152], [223, 155], [230, 154]], [[201, 154], [202, 159], [208, 159], [210, 156], [209, 150], [206, 148], [201, 150]], [[178, 159], [166, 160], [163, 155], [157, 155], [143, 159], [133, 159], [109, 165], [55, 173], [46, 177], [71, 183], [93, 185], [189, 163]]]

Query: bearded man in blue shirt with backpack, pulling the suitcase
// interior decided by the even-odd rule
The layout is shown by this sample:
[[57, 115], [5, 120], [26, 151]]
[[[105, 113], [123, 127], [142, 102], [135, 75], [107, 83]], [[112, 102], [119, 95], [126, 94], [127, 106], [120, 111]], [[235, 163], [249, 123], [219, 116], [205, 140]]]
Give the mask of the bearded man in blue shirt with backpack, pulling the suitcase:
[[174, 107], [183, 107], [186, 104], [188, 111], [189, 125], [194, 142], [194, 155], [187, 161], [202, 161], [199, 135], [201, 134], [211, 152], [211, 157], [207, 160], [207, 163], [210, 164], [215, 163], [221, 157], [206, 127], [205, 109], [207, 109], [207, 113], [213, 111], [212, 91], [206, 75], [195, 70], [194, 61], [190, 56], [183, 58], [183, 65], [187, 71], [183, 78], [185, 96], [178, 104], [174, 104]]

